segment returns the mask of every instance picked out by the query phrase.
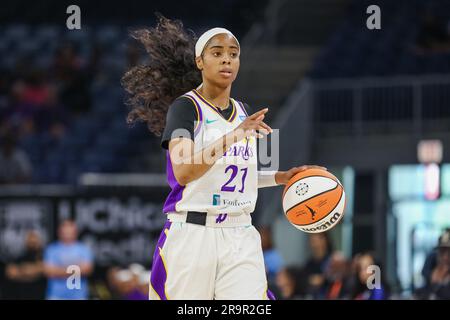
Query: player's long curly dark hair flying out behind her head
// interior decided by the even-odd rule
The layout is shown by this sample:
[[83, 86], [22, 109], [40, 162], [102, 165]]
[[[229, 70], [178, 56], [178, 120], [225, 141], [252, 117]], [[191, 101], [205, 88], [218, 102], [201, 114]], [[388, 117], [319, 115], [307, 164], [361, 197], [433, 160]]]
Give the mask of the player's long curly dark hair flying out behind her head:
[[129, 94], [128, 124], [144, 121], [151, 132], [160, 136], [170, 104], [200, 85], [202, 78], [195, 64], [194, 32], [185, 30], [180, 20], [170, 20], [158, 13], [156, 16], [155, 28], [131, 32], [145, 47], [149, 62], [128, 70], [121, 83]]

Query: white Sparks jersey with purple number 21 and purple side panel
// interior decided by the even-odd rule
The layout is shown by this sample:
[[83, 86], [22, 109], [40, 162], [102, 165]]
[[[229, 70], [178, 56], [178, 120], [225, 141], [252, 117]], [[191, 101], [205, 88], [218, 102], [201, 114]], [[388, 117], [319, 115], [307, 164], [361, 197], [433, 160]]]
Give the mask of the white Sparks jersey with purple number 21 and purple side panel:
[[[244, 105], [234, 99], [229, 119], [196, 90], [183, 95], [197, 109], [194, 130], [195, 152], [234, 130], [248, 116]], [[211, 214], [240, 215], [254, 211], [258, 196], [256, 139], [233, 144], [200, 178], [181, 186], [175, 179], [167, 151], [167, 179], [172, 191], [164, 212], [199, 211]]]

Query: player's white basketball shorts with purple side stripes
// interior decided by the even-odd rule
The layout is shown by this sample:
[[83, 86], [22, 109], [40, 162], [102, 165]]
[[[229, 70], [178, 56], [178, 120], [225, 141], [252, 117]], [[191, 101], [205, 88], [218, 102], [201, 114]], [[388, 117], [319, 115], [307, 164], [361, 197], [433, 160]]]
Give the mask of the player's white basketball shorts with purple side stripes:
[[168, 220], [153, 255], [150, 300], [267, 300], [259, 232]]

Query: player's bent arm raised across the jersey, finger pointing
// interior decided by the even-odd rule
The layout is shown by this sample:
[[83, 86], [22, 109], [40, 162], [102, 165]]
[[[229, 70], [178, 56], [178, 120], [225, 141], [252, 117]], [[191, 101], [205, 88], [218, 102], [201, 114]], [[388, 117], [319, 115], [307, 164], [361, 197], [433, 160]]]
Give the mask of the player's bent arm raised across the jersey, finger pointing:
[[[222, 136], [207, 147], [194, 152], [194, 142], [188, 138], [175, 138], [169, 142], [173, 172], [178, 183], [186, 185], [203, 176], [214, 163], [236, 142], [250, 136], [262, 138], [272, 129], [263, 122], [265, 108], [247, 117], [236, 129]], [[256, 132], [258, 130], [261, 133]]]

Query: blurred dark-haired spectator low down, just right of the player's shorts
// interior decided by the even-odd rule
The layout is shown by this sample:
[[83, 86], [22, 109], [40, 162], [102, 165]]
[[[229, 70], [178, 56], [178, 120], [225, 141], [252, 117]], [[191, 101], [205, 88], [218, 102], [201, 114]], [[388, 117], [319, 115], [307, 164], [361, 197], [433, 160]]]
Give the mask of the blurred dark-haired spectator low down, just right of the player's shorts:
[[305, 272], [296, 266], [281, 269], [276, 277], [280, 299], [300, 300], [311, 298], [307, 295], [307, 278]]

